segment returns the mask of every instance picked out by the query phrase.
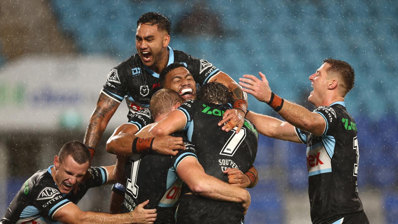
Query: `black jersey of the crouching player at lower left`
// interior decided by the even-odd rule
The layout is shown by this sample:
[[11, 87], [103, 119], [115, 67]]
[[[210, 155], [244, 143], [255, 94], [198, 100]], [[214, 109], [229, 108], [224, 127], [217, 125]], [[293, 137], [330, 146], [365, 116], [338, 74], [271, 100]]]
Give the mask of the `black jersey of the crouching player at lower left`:
[[[22, 185], [20, 191], [8, 206], [1, 224], [34, 223], [54, 224], [54, 214], [69, 203], [77, 204], [88, 189], [107, 182], [108, 173], [104, 167], [90, 167], [90, 179], [79, 184], [76, 194], [73, 190], [61, 194], [51, 175], [51, 167], [37, 171]], [[57, 222], [60, 223], [60, 222]]]

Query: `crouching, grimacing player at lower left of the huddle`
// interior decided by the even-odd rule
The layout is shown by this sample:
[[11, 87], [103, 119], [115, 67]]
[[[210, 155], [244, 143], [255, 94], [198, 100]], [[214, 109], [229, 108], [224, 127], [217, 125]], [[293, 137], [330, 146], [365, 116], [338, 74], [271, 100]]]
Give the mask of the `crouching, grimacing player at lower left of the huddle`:
[[[90, 153], [82, 142], [65, 143], [55, 156], [54, 165], [37, 171], [25, 181], [0, 224], [50, 224], [57, 221], [66, 224], [114, 224], [155, 221], [156, 209], [144, 209], [148, 201], [127, 214], [81, 211], [76, 204], [88, 189], [116, 182], [115, 165], [89, 166]], [[78, 188], [74, 192], [76, 186]]]

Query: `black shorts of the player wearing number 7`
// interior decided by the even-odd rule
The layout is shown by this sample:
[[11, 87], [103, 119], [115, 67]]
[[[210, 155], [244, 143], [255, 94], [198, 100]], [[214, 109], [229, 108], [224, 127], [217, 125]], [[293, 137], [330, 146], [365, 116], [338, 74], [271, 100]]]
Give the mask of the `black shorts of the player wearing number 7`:
[[181, 195], [177, 201], [176, 224], [243, 224], [240, 203]]

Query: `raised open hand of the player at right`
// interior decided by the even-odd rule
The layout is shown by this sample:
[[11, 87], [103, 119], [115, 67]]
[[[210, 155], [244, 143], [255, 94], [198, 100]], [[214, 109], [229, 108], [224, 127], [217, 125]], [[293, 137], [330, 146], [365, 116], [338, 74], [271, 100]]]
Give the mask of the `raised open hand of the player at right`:
[[261, 72], [258, 73], [260, 79], [254, 75], [243, 75], [244, 78], [239, 78], [239, 84], [243, 87], [242, 91], [252, 94], [259, 101], [268, 103], [271, 99], [271, 89], [265, 75]]

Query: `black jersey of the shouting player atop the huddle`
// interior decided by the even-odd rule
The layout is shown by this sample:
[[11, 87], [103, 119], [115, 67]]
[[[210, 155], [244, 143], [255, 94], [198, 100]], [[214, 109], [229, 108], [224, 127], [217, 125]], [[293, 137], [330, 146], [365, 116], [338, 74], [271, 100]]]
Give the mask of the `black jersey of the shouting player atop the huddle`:
[[[174, 62], [183, 63], [200, 85], [220, 73], [219, 69], [206, 60], [196, 59], [171, 47], [168, 49], [170, 53], [167, 65]], [[129, 110], [134, 113], [149, 107], [150, 98], [158, 90], [160, 90], [159, 74], [146, 67], [140, 56], [135, 54], [111, 69], [101, 92], [117, 102], [125, 98]]]

